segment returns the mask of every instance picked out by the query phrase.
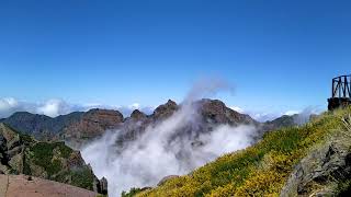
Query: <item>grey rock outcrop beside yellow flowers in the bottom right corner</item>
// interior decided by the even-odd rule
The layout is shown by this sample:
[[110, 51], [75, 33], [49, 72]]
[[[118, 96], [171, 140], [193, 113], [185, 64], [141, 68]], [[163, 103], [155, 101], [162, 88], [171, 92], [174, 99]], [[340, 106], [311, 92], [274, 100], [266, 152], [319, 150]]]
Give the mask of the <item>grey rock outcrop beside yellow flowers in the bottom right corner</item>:
[[335, 187], [351, 177], [350, 148], [350, 141], [336, 140], [312, 151], [295, 166], [281, 197], [338, 195]]

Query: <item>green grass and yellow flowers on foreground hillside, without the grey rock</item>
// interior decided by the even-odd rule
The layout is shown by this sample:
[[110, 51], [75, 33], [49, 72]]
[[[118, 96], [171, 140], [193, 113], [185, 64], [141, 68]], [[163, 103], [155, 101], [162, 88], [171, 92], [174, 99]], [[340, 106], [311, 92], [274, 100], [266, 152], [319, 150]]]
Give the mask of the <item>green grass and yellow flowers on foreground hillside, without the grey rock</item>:
[[[349, 114], [351, 108], [327, 112], [304, 126], [267, 132], [252, 147], [225, 154], [137, 196], [279, 196], [296, 164], [314, 150], [337, 138], [348, 138], [344, 144], [350, 150], [347, 132], [351, 130], [347, 131], [342, 121]], [[333, 188], [341, 193], [350, 189], [350, 184]]]

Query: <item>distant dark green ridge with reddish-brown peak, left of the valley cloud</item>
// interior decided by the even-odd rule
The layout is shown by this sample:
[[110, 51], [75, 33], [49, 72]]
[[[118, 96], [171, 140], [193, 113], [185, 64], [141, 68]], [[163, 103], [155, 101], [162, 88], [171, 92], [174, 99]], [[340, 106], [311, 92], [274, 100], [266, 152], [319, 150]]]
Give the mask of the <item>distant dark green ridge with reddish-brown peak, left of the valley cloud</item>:
[[123, 121], [118, 111], [93, 108], [88, 112], [73, 112], [55, 118], [18, 112], [0, 123], [10, 125], [22, 134], [38, 140], [65, 139], [72, 143], [83, 142], [101, 136], [106, 129], [115, 128]]

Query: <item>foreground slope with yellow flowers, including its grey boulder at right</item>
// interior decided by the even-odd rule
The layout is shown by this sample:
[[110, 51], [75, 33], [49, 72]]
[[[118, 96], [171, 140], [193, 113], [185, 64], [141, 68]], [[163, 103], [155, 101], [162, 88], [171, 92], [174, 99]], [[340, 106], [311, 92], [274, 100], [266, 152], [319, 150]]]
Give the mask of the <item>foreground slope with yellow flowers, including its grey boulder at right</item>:
[[342, 121], [350, 113], [351, 108], [328, 112], [304, 126], [267, 132], [252, 147], [137, 195], [309, 196], [350, 192], [351, 117]]

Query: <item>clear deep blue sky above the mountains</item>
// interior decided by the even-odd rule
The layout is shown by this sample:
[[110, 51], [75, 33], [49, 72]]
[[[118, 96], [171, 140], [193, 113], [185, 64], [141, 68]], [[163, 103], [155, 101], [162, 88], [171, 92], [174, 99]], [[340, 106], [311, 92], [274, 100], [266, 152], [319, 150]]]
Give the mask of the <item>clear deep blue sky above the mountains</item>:
[[155, 106], [222, 78], [246, 111], [326, 107], [350, 1], [1, 0], [0, 99]]

